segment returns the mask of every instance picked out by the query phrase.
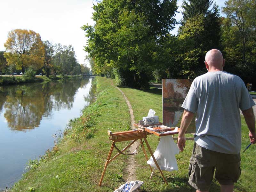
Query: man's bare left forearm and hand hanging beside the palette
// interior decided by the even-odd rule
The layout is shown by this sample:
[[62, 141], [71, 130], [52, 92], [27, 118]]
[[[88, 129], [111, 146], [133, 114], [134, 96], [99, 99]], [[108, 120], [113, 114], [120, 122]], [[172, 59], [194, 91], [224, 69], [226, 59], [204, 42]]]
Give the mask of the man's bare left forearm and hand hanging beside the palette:
[[188, 126], [190, 125], [194, 115], [195, 115], [194, 113], [186, 109], [183, 112], [183, 116], [180, 123], [180, 132], [178, 137], [178, 147], [180, 151], [184, 150], [185, 143], [186, 143], [185, 132], [187, 131]]

